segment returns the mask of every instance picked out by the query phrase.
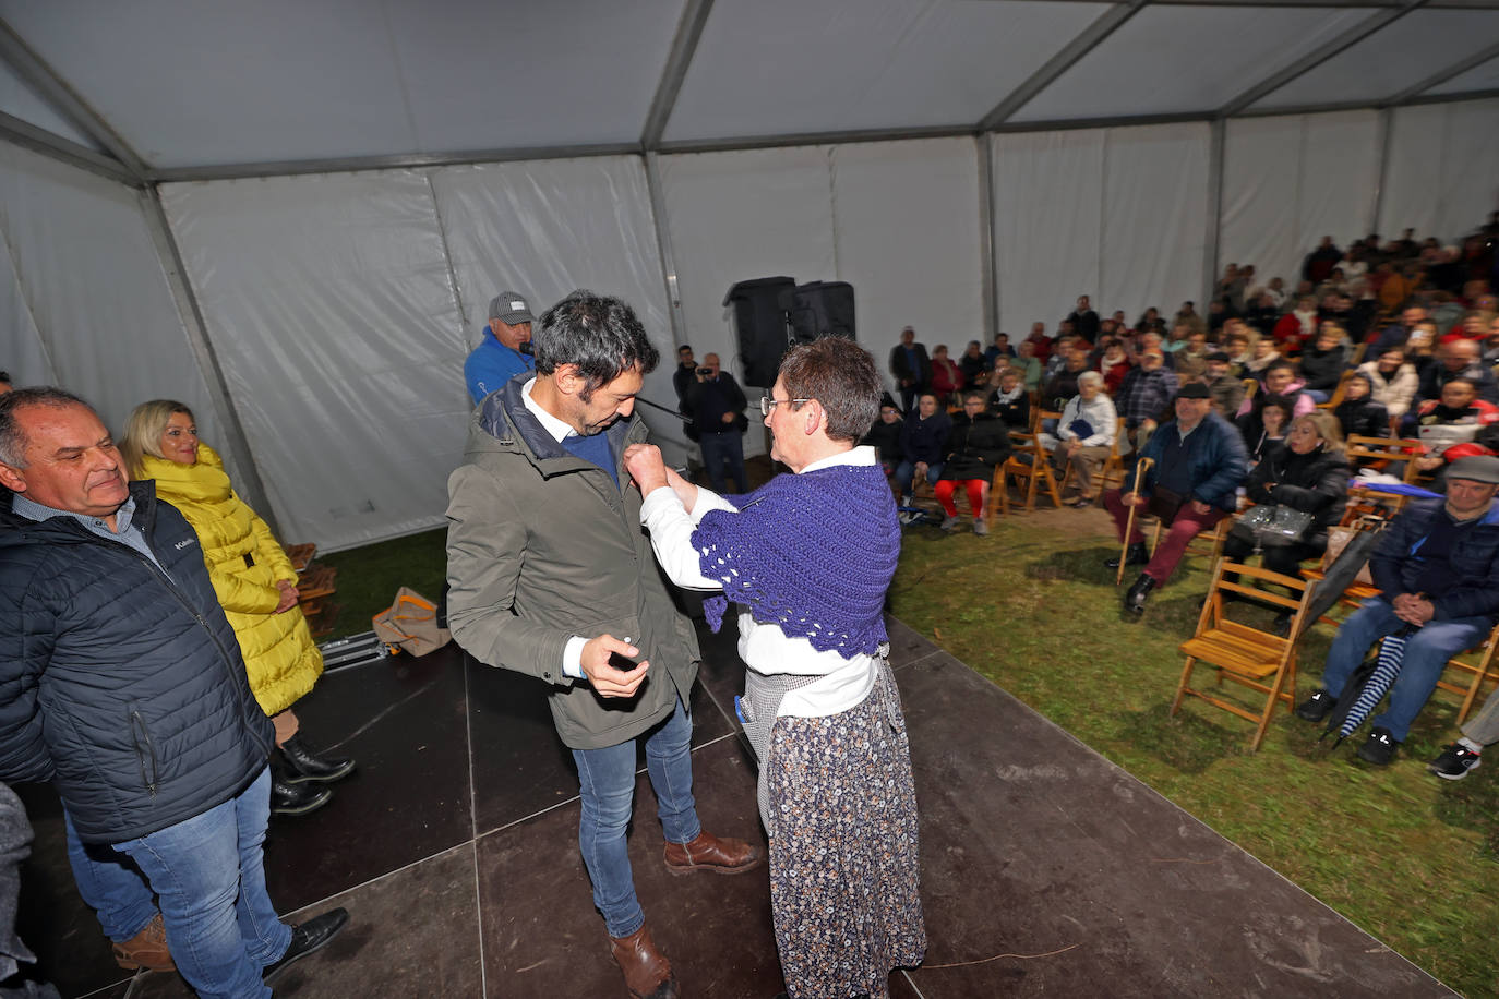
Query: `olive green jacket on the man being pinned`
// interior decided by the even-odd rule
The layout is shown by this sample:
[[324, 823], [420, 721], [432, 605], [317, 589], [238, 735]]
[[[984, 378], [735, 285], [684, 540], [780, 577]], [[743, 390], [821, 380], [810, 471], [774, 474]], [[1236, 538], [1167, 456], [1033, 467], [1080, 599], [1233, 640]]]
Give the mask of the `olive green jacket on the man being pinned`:
[[[480, 662], [540, 677], [571, 749], [634, 738], [691, 704], [697, 635], [672, 601], [640, 526], [640, 490], [624, 451], [646, 439], [639, 416], [606, 430], [624, 490], [562, 449], [525, 407], [525, 371], [469, 424], [448, 478], [448, 626]], [[562, 672], [573, 635], [628, 638], [651, 662], [633, 698], [601, 698]]]

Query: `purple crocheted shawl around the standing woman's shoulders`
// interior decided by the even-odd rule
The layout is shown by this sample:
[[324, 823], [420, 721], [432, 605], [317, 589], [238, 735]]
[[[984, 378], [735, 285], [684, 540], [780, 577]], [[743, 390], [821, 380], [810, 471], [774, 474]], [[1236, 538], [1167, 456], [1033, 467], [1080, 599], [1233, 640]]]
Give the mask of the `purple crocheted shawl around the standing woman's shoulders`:
[[878, 464], [778, 475], [709, 511], [693, 532], [705, 577], [724, 596], [703, 604], [723, 626], [729, 601], [817, 652], [877, 655], [887, 641], [884, 593], [901, 556], [895, 497]]

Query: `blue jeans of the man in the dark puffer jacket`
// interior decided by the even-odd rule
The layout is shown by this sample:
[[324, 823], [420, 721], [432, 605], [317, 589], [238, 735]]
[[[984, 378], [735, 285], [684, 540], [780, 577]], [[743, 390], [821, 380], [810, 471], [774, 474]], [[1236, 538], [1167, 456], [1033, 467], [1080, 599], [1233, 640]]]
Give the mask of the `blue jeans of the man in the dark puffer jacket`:
[[265, 894], [270, 792], [267, 767], [223, 804], [114, 845], [160, 899], [177, 971], [205, 999], [268, 998], [261, 969], [291, 945], [291, 927]]

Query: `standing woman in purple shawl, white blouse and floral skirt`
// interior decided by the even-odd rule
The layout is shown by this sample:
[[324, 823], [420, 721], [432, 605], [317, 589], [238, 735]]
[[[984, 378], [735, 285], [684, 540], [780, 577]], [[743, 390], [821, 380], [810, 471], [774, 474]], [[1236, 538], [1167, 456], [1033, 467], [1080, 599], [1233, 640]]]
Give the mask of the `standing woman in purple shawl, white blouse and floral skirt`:
[[874, 451], [874, 359], [851, 340], [791, 347], [760, 400], [778, 475], [724, 497], [636, 445], [625, 467], [640, 520], [679, 586], [721, 592], [714, 631], [739, 610], [745, 734], [760, 761], [770, 836], [770, 909], [787, 995], [889, 996], [920, 963], [916, 792], [886, 653], [884, 593], [901, 529]]

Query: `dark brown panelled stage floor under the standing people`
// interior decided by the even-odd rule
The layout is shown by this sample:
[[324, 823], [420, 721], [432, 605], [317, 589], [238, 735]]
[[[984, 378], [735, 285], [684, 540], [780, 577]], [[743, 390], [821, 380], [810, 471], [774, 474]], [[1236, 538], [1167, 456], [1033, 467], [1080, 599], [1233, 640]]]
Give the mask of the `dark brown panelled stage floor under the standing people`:
[[[1451, 995], [1234, 843], [898, 622], [892, 662], [922, 809], [926, 965], [902, 999], [958, 996]], [[754, 768], [730, 723], [732, 622], [703, 632], [694, 696], [703, 824], [760, 836]], [[271, 897], [349, 929], [277, 996], [624, 996], [577, 851], [577, 780], [543, 689], [456, 646], [324, 678], [309, 740], [358, 758], [321, 812], [273, 822]], [[643, 765], [643, 764], [642, 764]], [[67, 870], [49, 791], [21, 932], [63, 996], [186, 996], [115, 968]], [[770, 999], [781, 975], [764, 870], [673, 878], [642, 773], [631, 834], [657, 942], [694, 999]]]

